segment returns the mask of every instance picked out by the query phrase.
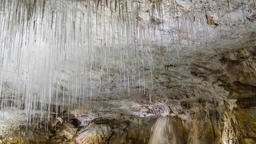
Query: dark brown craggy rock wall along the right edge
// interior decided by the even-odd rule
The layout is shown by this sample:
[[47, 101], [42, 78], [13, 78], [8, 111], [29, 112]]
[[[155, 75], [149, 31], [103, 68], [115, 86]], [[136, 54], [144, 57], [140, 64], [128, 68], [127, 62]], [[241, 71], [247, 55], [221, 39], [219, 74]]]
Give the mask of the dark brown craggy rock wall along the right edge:
[[227, 65], [232, 91], [228, 98], [237, 99], [234, 109], [240, 132], [240, 143], [256, 143], [256, 59], [254, 47], [250, 53], [241, 49], [238, 59]]

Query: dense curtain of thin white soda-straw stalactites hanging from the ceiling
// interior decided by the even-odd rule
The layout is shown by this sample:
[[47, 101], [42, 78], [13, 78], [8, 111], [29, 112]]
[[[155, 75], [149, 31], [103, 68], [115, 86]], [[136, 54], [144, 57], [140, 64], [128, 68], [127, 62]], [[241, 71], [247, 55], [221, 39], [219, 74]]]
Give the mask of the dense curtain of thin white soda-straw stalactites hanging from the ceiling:
[[217, 24], [225, 18], [231, 27], [231, 3], [216, 3], [213, 19], [207, 7], [189, 11], [175, 0], [0, 0], [0, 110], [24, 109], [26, 124], [40, 125], [52, 111], [88, 106], [111, 75], [128, 95], [134, 86], [145, 94], [160, 48], [205, 40], [227, 28]]

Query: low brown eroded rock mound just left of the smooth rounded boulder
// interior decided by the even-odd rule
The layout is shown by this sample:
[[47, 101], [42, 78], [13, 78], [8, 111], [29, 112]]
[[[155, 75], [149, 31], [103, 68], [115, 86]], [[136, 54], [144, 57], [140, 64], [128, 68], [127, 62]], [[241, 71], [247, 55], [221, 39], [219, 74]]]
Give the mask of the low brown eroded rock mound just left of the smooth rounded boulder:
[[75, 136], [77, 144], [147, 144], [155, 117], [100, 118], [84, 126]]

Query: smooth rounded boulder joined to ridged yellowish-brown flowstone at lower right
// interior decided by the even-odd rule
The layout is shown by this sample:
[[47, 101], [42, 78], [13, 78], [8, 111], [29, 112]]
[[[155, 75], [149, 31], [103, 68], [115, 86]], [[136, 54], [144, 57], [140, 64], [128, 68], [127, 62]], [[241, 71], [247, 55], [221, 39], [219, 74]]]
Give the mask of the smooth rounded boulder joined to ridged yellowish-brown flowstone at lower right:
[[149, 144], [237, 144], [237, 121], [226, 100], [195, 105], [190, 120], [161, 116], [151, 129]]

